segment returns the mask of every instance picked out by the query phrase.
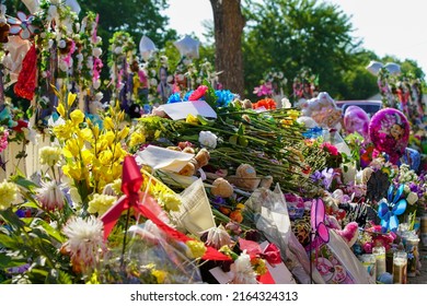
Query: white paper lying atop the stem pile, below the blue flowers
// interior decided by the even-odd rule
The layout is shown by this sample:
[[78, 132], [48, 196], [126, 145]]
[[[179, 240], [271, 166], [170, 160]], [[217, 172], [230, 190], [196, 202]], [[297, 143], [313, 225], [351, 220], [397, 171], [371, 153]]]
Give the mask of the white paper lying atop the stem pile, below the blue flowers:
[[171, 104], [163, 104], [159, 108], [163, 109], [173, 120], [185, 119], [191, 114], [193, 116], [204, 116], [217, 118], [217, 113], [205, 101], [188, 101]]

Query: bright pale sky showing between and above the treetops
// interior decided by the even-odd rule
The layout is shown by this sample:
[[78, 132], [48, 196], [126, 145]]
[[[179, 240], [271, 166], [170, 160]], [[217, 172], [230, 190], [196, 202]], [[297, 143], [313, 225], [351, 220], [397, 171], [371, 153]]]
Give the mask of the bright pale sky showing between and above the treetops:
[[[427, 11], [423, 0], [324, 0], [350, 16], [354, 36], [380, 57], [415, 60], [427, 73]], [[209, 0], [169, 0], [165, 14], [180, 35], [195, 33], [203, 43], [203, 21], [212, 20]], [[192, 10], [188, 10], [192, 8]], [[196, 12], [196, 13], [194, 13]]]

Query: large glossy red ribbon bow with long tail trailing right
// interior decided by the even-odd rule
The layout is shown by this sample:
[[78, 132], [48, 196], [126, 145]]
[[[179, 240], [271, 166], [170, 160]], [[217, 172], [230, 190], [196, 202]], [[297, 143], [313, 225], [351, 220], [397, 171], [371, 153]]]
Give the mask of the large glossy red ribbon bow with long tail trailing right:
[[[140, 199], [142, 198], [142, 192], [140, 188], [142, 185], [142, 175], [140, 169], [135, 162], [134, 156], [126, 156], [123, 165], [123, 176], [122, 176], [122, 191], [125, 193], [104, 215], [101, 217], [101, 221], [104, 223], [104, 238], [106, 239], [112, 232], [114, 225], [117, 223], [117, 220], [120, 217], [122, 213], [130, 208], [134, 208], [136, 213], [143, 215], [145, 217], [151, 220], [160, 229], [162, 229], [170, 238], [186, 243], [194, 240], [186, 236], [185, 234], [172, 228], [163, 221], [161, 221], [146, 204], [142, 204]], [[145, 195], [147, 202], [155, 202], [155, 200], [149, 195]], [[207, 247], [205, 255], [201, 257], [205, 260], [231, 260], [230, 257], [219, 252], [212, 247]]]

